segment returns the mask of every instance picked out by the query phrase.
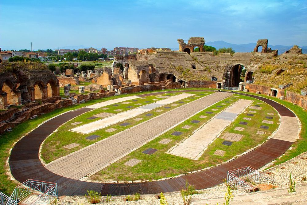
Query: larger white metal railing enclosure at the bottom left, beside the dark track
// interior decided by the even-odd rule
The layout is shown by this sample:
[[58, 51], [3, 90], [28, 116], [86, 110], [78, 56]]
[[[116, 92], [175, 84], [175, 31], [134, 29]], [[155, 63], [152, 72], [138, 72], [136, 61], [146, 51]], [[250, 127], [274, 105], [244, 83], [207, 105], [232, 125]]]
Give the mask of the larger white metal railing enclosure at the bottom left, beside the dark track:
[[52, 202], [57, 198], [57, 184], [28, 179], [14, 189], [10, 198], [19, 203], [32, 194], [37, 195], [32, 204]]

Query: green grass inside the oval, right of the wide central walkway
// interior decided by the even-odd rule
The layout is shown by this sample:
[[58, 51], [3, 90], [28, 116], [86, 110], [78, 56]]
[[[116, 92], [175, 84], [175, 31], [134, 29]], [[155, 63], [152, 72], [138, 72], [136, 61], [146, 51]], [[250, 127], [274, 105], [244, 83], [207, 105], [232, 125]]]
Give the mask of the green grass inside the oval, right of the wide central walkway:
[[[242, 99], [249, 99], [254, 100], [255, 103], [261, 102], [251, 97], [240, 96]], [[166, 132], [165, 134], [157, 137], [156, 139], [152, 140], [151, 142], [147, 143], [146, 145], [138, 148], [134, 152], [131, 152], [126, 157], [122, 158], [121, 160], [117, 161], [116, 163], [111, 164], [107, 168], [104, 168], [102, 171], [99, 171], [95, 175], [91, 176], [93, 180], [105, 180], [105, 179], [112, 179], [112, 180], [119, 180], [119, 181], [128, 181], [128, 180], [152, 180], [152, 179], [160, 179], [164, 177], [172, 177], [175, 175], [179, 175], [182, 173], [187, 173], [189, 171], [199, 170], [202, 168], [206, 168], [212, 165], [220, 164], [223, 161], [229, 160], [237, 154], [241, 154], [248, 150], [249, 148], [253, 148], [259, 143], [262, 143], [270, 134], [278, 127], [278, 120], [279, 117], [277, 112], [274, 108], [272, 108], [268, 104], [262, 104], [262, 110], [257, 110], [255, 116], [252, 116], [251, 121], [243, 120], [243, 117], [246, 116], [246, 112], [242, 113], [238, 116], [238, 118], [231, 123], [229, 127], [227, 127], [221, 136], [225, 132], [232, 132], [243, 134], [244, 137], [239, 142], [233, 142], [231, 146], [225, 146], [221, 144], [223, 139], [217, 138], [212, 144], [210, 144], [204, 154], [200, 157], [199, 160], [190, 160], [187, 158], [174, 156], [165, 153], [169, 148], [173, 147], [176, 143], [180, 142], [182, 139], [191, 135], [191, 132], [199, 128], [201, 124], [204, 124], [208, 121], [211, 117], [215, 116], [218, 112], [221, 112], [225, 109], [227, 105], [223, 106], [223, 108], [217, 108], [217, 105], [221, 105], [221, 103], [231, 99], [228, 97], [226, 100], [220, 101], [219, 103], [205, 109], [204, 111], [196, 114], [195, 116], [191, 117], [190, 119], [186, 120], [185, 122], [179, 124], [175, 128], [171, 129], [170, 131]], [[232, 101], [235, 102], [236, 100]], [[229, 103], [231, 104], [231, 103]], [[212, 108], [217, 108], [217, 111], [213, 111], [212, 114], [206, 114], [205, 112], [211, 110]], [[247, 109], [249, 110], [249, 109]], [[274, 124], [270, 125], [269, 130], [265, 130], [266, 134], [263, 136], [258, 136], [256, 134], [257, 130], [261, 130], [259, 127], [262, 125], [262, 120], [264, 120], [265, 113], [273, 112], [275, 113], [274, 116]], [[200, 115], [207, 115], [208, 117], [205, 119], [199, 118]], [[192, 120], [200, 120], [200, 123], [193, 124], [191, 123]], [[240, 121], [248, 122], [247, 125], [239, 124]], [[190, 125], [192, 128], [184, 129], [182, 128], [184, 125]], [[235, 127], [244, 127], [244, 131], [235, 131]], [[183, 132], [181, 136], [173, 136], [171, 133], [179, 131]], [[159, 144], [158, 142], [162, 139], [170, 139], [172, 142], [169, 144]], [[142, 153], [147, 148], [154, 148], [158, 151], [152, 155], [146, 155]], [[223, 157], [213, 155], [216, 149], [224, 150], [226, 153]], [[141, 163], [135, 165], [134, 167], [128, 167], [124, 165], [128, 160], [135, 158], [138, 160], [142, 160]]]

